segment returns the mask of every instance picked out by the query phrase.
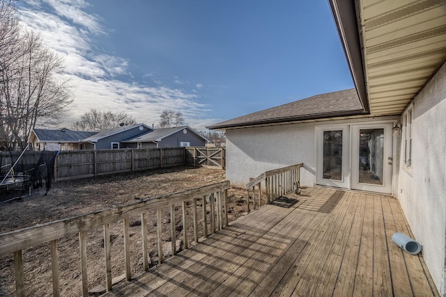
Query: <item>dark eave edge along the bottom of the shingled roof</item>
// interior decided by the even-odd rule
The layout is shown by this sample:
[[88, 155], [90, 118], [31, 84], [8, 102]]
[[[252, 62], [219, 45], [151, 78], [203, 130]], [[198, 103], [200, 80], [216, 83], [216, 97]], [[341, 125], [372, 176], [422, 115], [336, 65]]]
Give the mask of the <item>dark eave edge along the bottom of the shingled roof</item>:
[[266, 119], [266, 120], [256, 120], [252, 122], [239, 122], [235, 124], [229, 124], [229, 125], [212, 125], [206, 127], [210, 130], [220, 130], [220, 129], [229, 129], [229, 128], [239, 128], [239, 127], [246, 127], [246, 126], [259, 126], [259, 125], [268, 125], [268, 124], [279, 124], [282, 122], [298, 122], [302, 120], [318, 120], [323, 118], [337, 118], [337, 117], [345, 117], [345, 116], [352, 116], [352, 115], [367, 115], [368, 113], [365, 113], [362, 109], [355, 110], [355, 111], [338, 111], [338, 112], [331, 112], [331, 113], [316, 113], [312, 115], [300, 115], [295, 117], [285, 117], [285, 118], [272, 118], [272, 119]]

